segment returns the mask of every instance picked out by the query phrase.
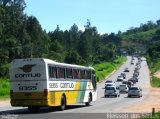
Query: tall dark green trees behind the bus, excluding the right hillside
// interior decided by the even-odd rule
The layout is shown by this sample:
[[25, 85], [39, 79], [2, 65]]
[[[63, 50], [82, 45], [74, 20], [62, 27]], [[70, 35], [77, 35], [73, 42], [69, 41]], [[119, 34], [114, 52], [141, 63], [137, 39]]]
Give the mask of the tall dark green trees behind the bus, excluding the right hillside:
[[24, 13], [25, 0], [0, 0], [0, 77], [8, 76], [10, 62], [17, 58], [49, 58], [58, 62], [92, 65], [117, 55], [121, 38], [100, 35], [88, 19], [85, 30], [76, 24], [62, 31], [42, 29], [35, 16]]

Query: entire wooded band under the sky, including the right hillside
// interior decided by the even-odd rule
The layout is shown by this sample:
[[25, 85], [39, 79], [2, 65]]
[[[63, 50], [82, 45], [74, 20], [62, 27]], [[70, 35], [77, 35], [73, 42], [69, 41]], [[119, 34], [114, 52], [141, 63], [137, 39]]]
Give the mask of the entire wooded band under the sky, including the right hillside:
[[69, 30], [57, 25], [46, 32], [35, 16], [24, 13], [26, 7], [25, 0], [0, 0], [0, 77], [8, 76], [10, 62], [17, 58], [43, 57], [79, 65], [113, 61], [122, 53], [140, 53], [150, 61], [160, 58], [160, 20], [117, 34], [99, 34], [89, 19], [84, 31], [74, 23]]

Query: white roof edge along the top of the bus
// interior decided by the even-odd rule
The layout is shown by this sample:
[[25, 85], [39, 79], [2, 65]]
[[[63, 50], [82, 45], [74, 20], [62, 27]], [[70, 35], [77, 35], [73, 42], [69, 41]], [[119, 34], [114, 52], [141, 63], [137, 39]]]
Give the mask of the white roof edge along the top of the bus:
[[12, 63], [14, 62], [36, 62], [36, 61], [43, 61], [47, 64], [50, 65], [58, 65], [58, 66], [67, 66], [67, 67], [75, 67], [75, 68], [83, 68], [83, 69], [91, 69], [94, 70], [93, 67], [91, 66], [81, 66], [81, 65], [75, 65], [75, 64], [67, 64], [67, 63], [60, 63], [60, 62], [56, 62], [54, 60], [51, 59], [46, 59], [46, 58], [26, 58], [26, 59], [14, 59], [12, 61]]

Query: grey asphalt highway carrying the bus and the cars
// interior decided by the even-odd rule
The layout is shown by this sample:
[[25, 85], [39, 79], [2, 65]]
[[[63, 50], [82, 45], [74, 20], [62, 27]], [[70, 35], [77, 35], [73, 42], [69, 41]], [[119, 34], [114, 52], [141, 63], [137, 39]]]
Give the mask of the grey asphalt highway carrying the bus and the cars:
[[[116, 80], [117, 76], [123, 72], [125, 67], [128, 67], [130, 72], [126, 73], [127, 79], [131, 78], [133, 75], [133, 71], [135, 69], [135, 65], [130, 64], [131, 57], [127, 57], [127, 61], [117, 69], [110, 77], [107, 79]], [[138, 62], [137, 58], [135, 58], [134, 63]], [[106, 80], [107, 80], [106, 79]], [[140, 86], [142, 88], [142, 97], [141, 98], [128, 98], [127, 94], [121, 94], [120, 97], [114, 98], [104, 98], [104, 82], [98, 84], [98, 95], [97, 101], [92, 102], [92, 105], [86, 107], [84, 104], [77, 104], [68, 106], [65, 111], [57, 111], [51, 110], [48, 108], [41, 109], [39, 113], [31, 113], [24, 107], [11, 107], [11, 106], [3, 106], [0, 107], [0, 117], [5, 117], [7, 115], [18, 117], [18, 118], [56, 118], [56, 119], [106, 119], [107, 113], [121, 113], [124, 108], [129, 108], [134, 104], [145, 100], [145, 97], [149, 93], [149, 70], [146, 63], [145, 58], [141, 63], [141, 69], [139, 74], [139, 82], [136, 83], [136, 86]], [[119, 85], [119, 83], [116, 83]]]

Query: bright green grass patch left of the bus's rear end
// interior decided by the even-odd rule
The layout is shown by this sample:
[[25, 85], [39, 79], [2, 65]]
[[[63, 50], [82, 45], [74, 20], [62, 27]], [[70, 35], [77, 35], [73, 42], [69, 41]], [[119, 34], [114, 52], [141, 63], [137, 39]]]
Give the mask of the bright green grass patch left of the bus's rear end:
[[10, 95], [9, 80], [0, 78], [0, 99], [9, 98], [9, 95]]

